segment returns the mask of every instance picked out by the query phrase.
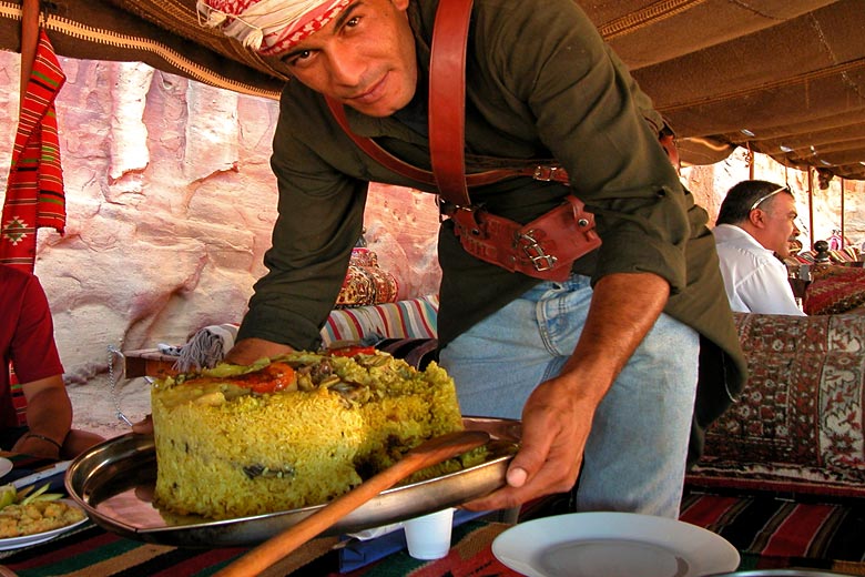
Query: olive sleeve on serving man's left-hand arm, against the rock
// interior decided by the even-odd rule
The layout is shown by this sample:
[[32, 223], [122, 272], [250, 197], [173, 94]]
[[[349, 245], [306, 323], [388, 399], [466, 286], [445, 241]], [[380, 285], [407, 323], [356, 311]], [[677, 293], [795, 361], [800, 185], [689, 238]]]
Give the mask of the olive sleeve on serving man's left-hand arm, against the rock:
[[311, 350], [362, 234], [368, 183], [338, 173], [293, 138], [295, 118], [283, 105], [271, 161], [279, 201], [268, 272], [255, 284], [238, 338]]

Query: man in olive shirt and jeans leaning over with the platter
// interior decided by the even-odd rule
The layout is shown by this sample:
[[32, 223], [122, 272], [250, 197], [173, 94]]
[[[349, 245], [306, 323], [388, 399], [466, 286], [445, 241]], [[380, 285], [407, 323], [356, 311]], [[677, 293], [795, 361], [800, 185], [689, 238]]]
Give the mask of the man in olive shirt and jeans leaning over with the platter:
[[[424, 178], [446, 112], [429, 104], [438, 4], [200, 0], [206, 26], [292, 75], [269, 272], [227, 361], [318, 347], [370, 181], [444, 194]], [[659, 144], [662, 119], [572, 0], [476, 0], [466, 38], [465, 85], [449, 80], [465, 88], [465, 173], [510, 176], [441, 203], [440, 360], [462, 414], [522, 419], [507, 485], [466, 506], [513, 507], [579, 477], [578, 510], [675, 517], [689, 442], [693, 459], [745, 374], [706, 214]], [[566, 246], [584, 239], [600, 243]]]

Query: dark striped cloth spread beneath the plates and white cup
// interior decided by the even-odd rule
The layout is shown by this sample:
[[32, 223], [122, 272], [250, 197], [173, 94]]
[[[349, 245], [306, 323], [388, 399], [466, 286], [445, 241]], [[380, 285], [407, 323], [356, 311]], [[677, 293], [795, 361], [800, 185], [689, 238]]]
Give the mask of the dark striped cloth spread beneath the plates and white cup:
[[[549, 500], [548, 503], [553, 503]], [[560, 502], [554, 502], [560, 503]], [[557, 505], [558, 506], [558, 505]], [[538, 515], [567, 510], [547, 508]], [[528, 520], [520, 515], [521, 520]], [[682, 503], [681, 519], [720, 534], [742, 556], [739, 569], [812, 568], [843, 575], [865, 575], [865, 504], [791, 502], [773, 495], [691, 493]], [[344, 577], [517, 577], [501, 565], [490, 544], [509, 525], [472, 520], [454, 528], [447, 557], [413, 559], [405, 550], [372, 565], [343, 573]], [[336, 576], [336, 538], [307, 543], [264, 577]], [[19, 577], [115, 575], [124, 577], [205, 576], [246, 553], [244, 547], [175, 548], [126, 539], [86, 524], [50, 543], [17, 551], [0, 551], [0, 563]]]

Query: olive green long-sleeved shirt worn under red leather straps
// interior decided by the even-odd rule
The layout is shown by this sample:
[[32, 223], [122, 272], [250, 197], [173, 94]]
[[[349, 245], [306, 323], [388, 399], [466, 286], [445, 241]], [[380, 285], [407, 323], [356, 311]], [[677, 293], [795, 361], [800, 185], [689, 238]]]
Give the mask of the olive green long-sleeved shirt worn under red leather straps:
[[[357, 134], [426, 170], [426, 78], [436, 6], [413, 0], [408, 9], [421, 79], [415, 100], [388, 118], [347, 110]], [[466, 75], [467, 172], [556, 159], [571, 178], [571, 189], [512, 179], [472, 189], [472, 201], [526, 223], [571, 190], [582, 199], [596, 215], [602, 245], [574, 271], [593, 281], [648, 272], [670, 283], [665, 311], [703, 336], [701, 374], [712, 377], [700, 384], [696, 421], [702, 426], [714, 419], [740, 392], [745, 363], [706, 213], [659, 145], [660, 121], [649, 99], [572, 0], [476, 0]], [[269, 273], [255, 285], [240, 338], [314, 348], [362, 233], [368, 182], [436, 191], [360, 152], [324, 99], [299, 82], [284, 91], [272, 165], [279, 215], [265, 256]], [[442, 346], [538, 282], [468, 255], [448, 221], [438, 256]]]

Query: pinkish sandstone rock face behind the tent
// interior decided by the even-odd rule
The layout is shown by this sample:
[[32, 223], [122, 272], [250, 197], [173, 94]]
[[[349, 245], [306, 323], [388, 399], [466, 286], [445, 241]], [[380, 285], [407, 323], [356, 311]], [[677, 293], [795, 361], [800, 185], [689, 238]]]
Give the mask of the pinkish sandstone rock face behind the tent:
[[[19, 61], [0, 53], [7, 87], [17, 85]], [[264, 273], [276, 216], [268, 160], [278, 108], [139, 63], [61, 64], [68, 75], [58, 99], [68, 225], [62, 236], [40, 231], [35, 272], [51, 302], [68, 381], [104, 384], [109, 345], [180, 344], [202, 326], [242, 318]], [[14, 90], [0, 93], [2, 182], [18, 99]], [[761, 162], [759, 176], [807, 189], [803, 173]], [[743, 159], [734, 158], [688, 169], [683, 179], [714, 219], [723, 192], [747, 175]], [[815, 198], [817, 239], [839, 227], [833, 186]], [[808, 222], [807, 199], [801, 201]], [[862, 220], [849, 216], [858, 210], [854, 202], [847, 200], [846, 230], [861, 241]], [[397, 277], [400, 297], [437, 291], [432, 195], [373, 185], [366, 227], [368, 246]]]

